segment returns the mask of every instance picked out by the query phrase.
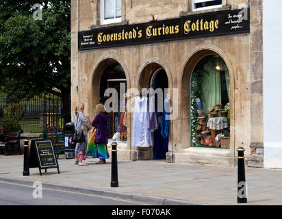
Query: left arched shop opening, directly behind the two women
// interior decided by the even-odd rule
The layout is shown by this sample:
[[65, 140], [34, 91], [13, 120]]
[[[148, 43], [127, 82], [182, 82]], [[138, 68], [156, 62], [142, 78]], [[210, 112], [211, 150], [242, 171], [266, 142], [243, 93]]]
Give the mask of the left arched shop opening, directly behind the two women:
[[[105, 105], [107, 114], [110, 117], [108, 135], [110, 140], [112, 140], [114, 133], [120, 133], [118, 140], [127, 142], [127, 120], [125, 116], [125, 92], [127, 91], [127, 86], [125, 70], [119, 62], [112, 58], [107, 58], [97, 64], [92, 77], [91, 112], [95, 116], [95, 106], [98, 103]], [[121, 138], [122, 136], [123, 138]]]

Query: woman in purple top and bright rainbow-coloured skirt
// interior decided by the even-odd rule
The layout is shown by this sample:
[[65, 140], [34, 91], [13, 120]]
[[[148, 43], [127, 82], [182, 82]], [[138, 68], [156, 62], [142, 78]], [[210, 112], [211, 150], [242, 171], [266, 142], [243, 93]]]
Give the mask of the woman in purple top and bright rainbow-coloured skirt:
[[103, 104], [96, 105], [96, 114], [92, 121], [94, 127], [93, 136], [88, 145], [88, 155], [93, 158], [100, 158], [96, 164], [105, 164], [105, 159], [109, 158], [107, 151], [107, 129], [110, 126], [110, 118], [105, 114], [105, 107]]

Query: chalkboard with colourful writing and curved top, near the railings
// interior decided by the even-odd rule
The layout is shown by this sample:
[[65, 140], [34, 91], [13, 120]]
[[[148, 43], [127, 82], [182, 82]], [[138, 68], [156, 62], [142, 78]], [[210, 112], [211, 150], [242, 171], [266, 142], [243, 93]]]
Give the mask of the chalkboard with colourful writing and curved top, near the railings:
[[52, 126], [46, 129], [44, 138], [52, 140], [55, 154], [64, 153], [64, 131], [60, 127]]

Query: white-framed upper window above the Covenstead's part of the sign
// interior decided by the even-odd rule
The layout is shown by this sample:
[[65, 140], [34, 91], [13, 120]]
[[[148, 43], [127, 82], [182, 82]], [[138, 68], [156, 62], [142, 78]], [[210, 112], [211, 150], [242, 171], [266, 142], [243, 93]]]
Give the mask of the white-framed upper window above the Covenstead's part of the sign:
[[121, 0], [101, 0], [101, 24], [121, 22]]

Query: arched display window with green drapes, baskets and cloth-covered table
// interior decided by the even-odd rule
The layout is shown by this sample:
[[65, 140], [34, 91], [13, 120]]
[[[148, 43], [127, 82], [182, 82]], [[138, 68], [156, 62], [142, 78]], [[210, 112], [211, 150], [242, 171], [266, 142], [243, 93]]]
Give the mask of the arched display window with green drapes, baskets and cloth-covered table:
[[206, 55], [190, 83], [191, 146], [230, 148], [230, 79], [218, 55]]

